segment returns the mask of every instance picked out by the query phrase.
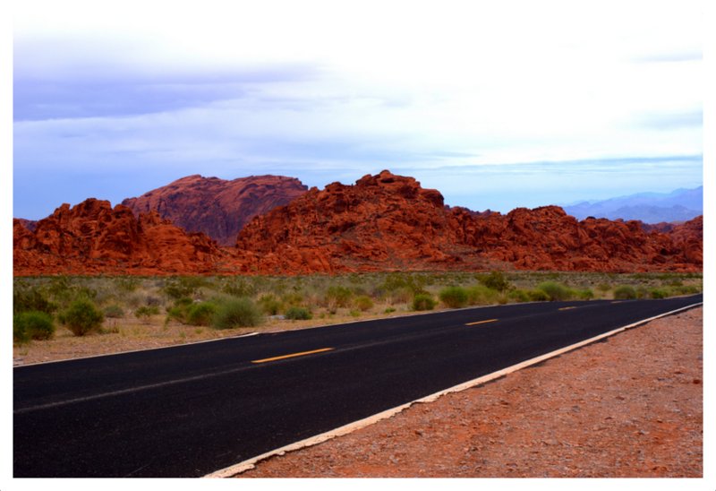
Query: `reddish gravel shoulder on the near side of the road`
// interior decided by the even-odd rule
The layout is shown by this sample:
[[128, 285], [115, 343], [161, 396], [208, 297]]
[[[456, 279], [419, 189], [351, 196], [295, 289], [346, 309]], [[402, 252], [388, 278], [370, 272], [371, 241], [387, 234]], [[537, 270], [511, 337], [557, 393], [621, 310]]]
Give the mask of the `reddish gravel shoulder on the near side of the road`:
[[703, 307], [237, 478], [702, 478]]

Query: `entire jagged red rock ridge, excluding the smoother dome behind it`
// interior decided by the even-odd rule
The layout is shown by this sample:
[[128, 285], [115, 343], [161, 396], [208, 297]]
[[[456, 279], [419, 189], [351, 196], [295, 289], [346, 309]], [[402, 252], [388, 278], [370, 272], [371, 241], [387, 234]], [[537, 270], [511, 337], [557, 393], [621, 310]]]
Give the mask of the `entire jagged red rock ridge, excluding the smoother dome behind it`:
[[[200, 187], [206, 180], [180, 179]], [[578, 221], [557, 206], [506, 215], [447, 207], [437, 190], [385, 170], [354, 185], [311, 188], [255, 216], [233, 248], [158, 211], [137, 217], [96, 199], [64, 204], [34, 231], [14, 220], [14, 274], [702, 270], [703, 217], [667, 233], [643, 225]]]

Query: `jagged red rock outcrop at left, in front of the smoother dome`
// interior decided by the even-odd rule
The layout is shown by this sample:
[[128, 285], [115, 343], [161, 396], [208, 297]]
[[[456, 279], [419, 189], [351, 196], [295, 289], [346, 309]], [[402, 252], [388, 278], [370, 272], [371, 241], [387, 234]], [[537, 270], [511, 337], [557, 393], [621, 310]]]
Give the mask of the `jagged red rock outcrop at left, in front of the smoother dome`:
[[63, 204], [35, 231], [13, 223], [15, 274], [170, 274], [214, 271], [226, 253], [209, 237], [187, 233], [156, 211], [139, 219], [121, 204], [90, 198]]

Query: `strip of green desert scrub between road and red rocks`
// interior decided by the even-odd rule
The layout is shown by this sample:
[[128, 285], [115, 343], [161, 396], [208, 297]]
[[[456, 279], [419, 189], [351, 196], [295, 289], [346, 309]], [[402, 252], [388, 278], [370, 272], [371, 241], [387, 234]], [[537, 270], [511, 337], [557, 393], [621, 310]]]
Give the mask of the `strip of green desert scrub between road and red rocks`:
[[[307, 276], [24, 277], [13, 280], [16, 348], [54, 338], [169, 343], [434, 309], [664, 298], [703, 289], [701, 273], [491, 271]], [[139, 343], [141, 344], [141, 342]]]

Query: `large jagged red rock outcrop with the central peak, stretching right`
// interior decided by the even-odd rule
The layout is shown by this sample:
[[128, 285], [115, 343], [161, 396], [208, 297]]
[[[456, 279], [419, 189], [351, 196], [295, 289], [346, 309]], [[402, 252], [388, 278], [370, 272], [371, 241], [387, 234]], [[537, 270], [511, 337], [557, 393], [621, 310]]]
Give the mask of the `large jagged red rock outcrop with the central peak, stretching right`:
[[636, 221], [588, 219], [561, 208], [507, 215], [446, 208], [442, 195], [388, 171], [355, 185], [312, 188], [252, 220], [237, 239], [244, 271], [475, 270], [696, 271], [665, 234]]

